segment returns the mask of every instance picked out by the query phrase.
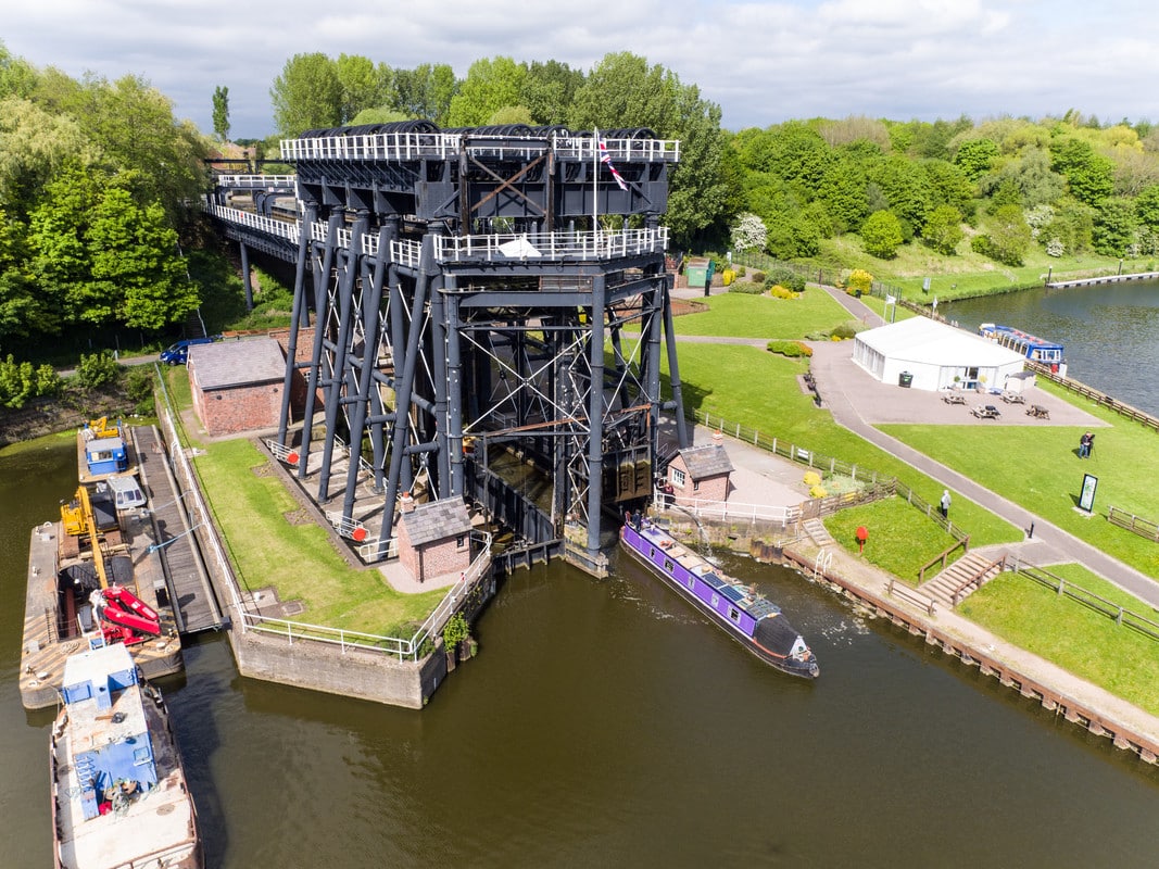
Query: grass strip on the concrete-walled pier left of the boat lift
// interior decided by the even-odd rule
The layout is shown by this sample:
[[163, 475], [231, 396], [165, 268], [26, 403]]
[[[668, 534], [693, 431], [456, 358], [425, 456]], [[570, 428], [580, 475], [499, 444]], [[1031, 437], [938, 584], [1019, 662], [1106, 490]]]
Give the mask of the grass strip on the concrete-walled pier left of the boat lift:
[[298, 502], [249, 440], [210, 444], [195, 462], [239, 582], [301, 600], [306, 612], [296, 621], [410, 637], [446, 593], [400, 594], [378, 570], [349, 567], [325, 528], [289, 521]]

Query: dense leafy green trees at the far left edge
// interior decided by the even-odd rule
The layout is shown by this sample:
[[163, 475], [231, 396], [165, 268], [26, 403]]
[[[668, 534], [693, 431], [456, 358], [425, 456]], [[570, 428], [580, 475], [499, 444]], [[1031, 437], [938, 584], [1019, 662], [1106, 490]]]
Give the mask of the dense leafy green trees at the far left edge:
[[206, 154], [141, 79], [78, 81], [0, 43], [0, 350], [111, 344], [196, 309], [180, 233]]

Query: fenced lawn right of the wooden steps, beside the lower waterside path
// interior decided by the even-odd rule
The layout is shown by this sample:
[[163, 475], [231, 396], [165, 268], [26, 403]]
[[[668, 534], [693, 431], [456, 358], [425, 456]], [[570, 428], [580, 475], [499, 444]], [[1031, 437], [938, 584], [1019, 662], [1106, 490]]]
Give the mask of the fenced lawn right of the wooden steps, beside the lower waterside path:
[[[1152, 621], [1150, 606], [1078, 564], [1051, 574]], [[1072, 598], [1013, 572], [967, 598], [958, 612], [1015, 645], [1159, 715], [1159, 642], [1116, 625]]]

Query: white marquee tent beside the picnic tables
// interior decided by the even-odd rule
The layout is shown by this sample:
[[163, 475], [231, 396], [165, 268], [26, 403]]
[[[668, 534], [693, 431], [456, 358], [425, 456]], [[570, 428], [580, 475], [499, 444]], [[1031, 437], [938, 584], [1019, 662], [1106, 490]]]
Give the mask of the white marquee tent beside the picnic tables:
[[[883, 384], [909, 380], [914, 389], [1005, 389], [1019, 380], [1025, 357], [981, 335], [925, 316], [860, 333], [853, 362]], [[955, 380], [956, 378], [956, 380]]]

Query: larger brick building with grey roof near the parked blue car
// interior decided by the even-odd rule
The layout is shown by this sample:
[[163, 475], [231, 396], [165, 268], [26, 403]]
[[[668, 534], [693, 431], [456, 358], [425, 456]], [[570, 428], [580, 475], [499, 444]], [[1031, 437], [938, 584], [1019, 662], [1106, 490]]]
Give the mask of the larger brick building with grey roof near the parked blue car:
[[269, 337], [189, 348], [189, 384], [210, 434], [238, 434], [278, 424], [286, 359]]

